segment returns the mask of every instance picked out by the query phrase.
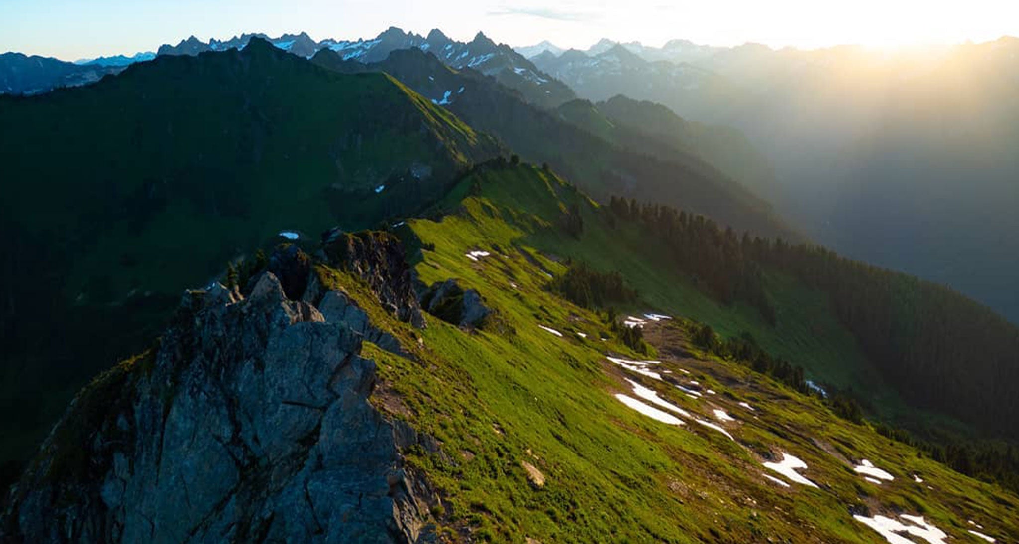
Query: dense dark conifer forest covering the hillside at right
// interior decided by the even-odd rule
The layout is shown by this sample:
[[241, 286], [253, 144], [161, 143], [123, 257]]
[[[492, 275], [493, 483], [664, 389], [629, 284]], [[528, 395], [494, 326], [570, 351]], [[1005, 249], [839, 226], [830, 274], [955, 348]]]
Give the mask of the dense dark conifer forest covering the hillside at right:
[[839, 320], [913, 404], [983, 431], [1019, 435], [1019, 328], [962, 294], [840, 257], [818, 246], [738, 235], [710, 219], [611, 199], [611, 221], [636, 223], [716, 300], [740, 300], [771, 322], [764, 271], [798, 278], [828, 295]]

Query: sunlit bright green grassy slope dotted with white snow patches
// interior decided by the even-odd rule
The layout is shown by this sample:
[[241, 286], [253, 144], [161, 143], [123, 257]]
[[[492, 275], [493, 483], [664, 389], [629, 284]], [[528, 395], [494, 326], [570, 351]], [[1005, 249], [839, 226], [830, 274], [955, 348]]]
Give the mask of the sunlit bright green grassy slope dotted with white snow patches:
[[[409, 229], [401, 231], [406, 237], [422, 242], [417, 271], [425, 283], [457, 278], [497, 312], [483, 330], [434, 318], [427, 329], [412, 329], [388, 317], [356, 279], [320, 269], [327, 283], [350, 291], [417, 356], [412, 361], [371, 345], [365, 350], [383, 379], [379, 405], [440, 444], [438, 452], [421, 450], [411, 461], [439, 489], [442, 499], [431, 512], [448, 540], [878, 541], [853, 513], [924, 515], [957, 539], [973, 538], [968, 520], [999, 538], [1019, 534], [1015, 496], [953, 473], [866, 425], [840, 420], [815, 397], [699, 352], [687, 341], [683, 320], [649, 327], [662, 361], [654, 370], [667, 370], [669, 379], [691, 387], [698, 381], [702, 396], [609, 364], [606, 352], [636, 356], [607, 332], [603, 316], [545, 288], [546, 272], [565, 270], [556, 262], [564, 253], [579, 252], [583, 243], [590, 244], [589, 256], [616, 251], [619, 238], [603, 233], [587, 239], [591, 219], [573, 250], [557, 256], [541, 251], [557, 229], [556, 214], [584, 202], [549, 172], [488, 168], [443, 203], [451, 215], [401, 227]], [[465, 255], [472, 250], [491, 255], [473, 261]], [[605, 263], [624, 264], [611, 254]], [[642, 282], [645, 296], [660, 297], [654, 309], [667, 310], [664, 288], [647, 290], [651, 278], [664, 281], [665, 274], [638, 270], [633, 265], [625, 274]], [[694, 296], [689, 288], [681, 292]], [[682, 418], [686, 425], [662, 424], [624, 405], [613, 394], [633, 396], [625, 379], [689, 411], [691, 417]], [[717, 420], [714, 410], [736, 421]], [[713, 421], [735, 440], [695, 419]], [[777, 475], [761, 463], [781, 452], [802, 458], [808, 466], [803, 476], [819, 489], [786, 488], [764, 478]], [[852, 468], [862, 458], [895, 480], [863, 480]], [[540, 473], [541, 485], [525, 464]]]

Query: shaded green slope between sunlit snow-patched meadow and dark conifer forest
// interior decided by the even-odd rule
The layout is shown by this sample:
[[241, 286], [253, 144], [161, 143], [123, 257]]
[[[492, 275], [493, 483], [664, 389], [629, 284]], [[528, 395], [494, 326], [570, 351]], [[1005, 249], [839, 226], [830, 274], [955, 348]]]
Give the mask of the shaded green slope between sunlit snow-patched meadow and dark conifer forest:
[[[477, 180], [486, 199], [500, 208], [541, 217], [546, 226], [561, 213], [555, 207], [556, 202], [561, 202], [562, 207], [582, 204], [584, 232], [579, 238], [561, 229], [537, 228], [530, 223], [518, 235], [521, 242], [557, 260], [576, 259], [603, 271], [620, 271], [640, 295], [638, 305], [620, 310], [639, 312], [651, 308], [682, 315], [707, 323], [727, 336], [749, 332], [772, 355], [802, 366], [808, 378], [869, 394], [870, 397], [864, 400], [869, 400], [883, 416], [909, 412], [872, 368], [856, 339], [839, 323], [823, 293], [807, 289], [780, 273], [768, 273], [767, 290], [779, 317], [772, 326], [748, 305], [726, 306], [706, 295], [689, 277], [672, 268], [665, 259], [668, 252], [664, 247], [658, 247], [654, 239], [643, 236], [636, 228], [610, 226], [597, 206], [581, 193], [571, 189], [571, 198], [549, 199], [547, 193], [538, 191], [540, 185], [533, 175], [550, 174], [534, 174], [522, 167], [482, 171]], [[467, 183], [464, 186], [467, 187]], [[439, 206], [445, 210], [455, 209], [460, 205], [458, 199], [465, 192], [466, 188], [454, 192]], [[449, 218], [446, 221], [457, 220]], [[494, 218], [491, 222], [495, 226], [500, 224]]]

